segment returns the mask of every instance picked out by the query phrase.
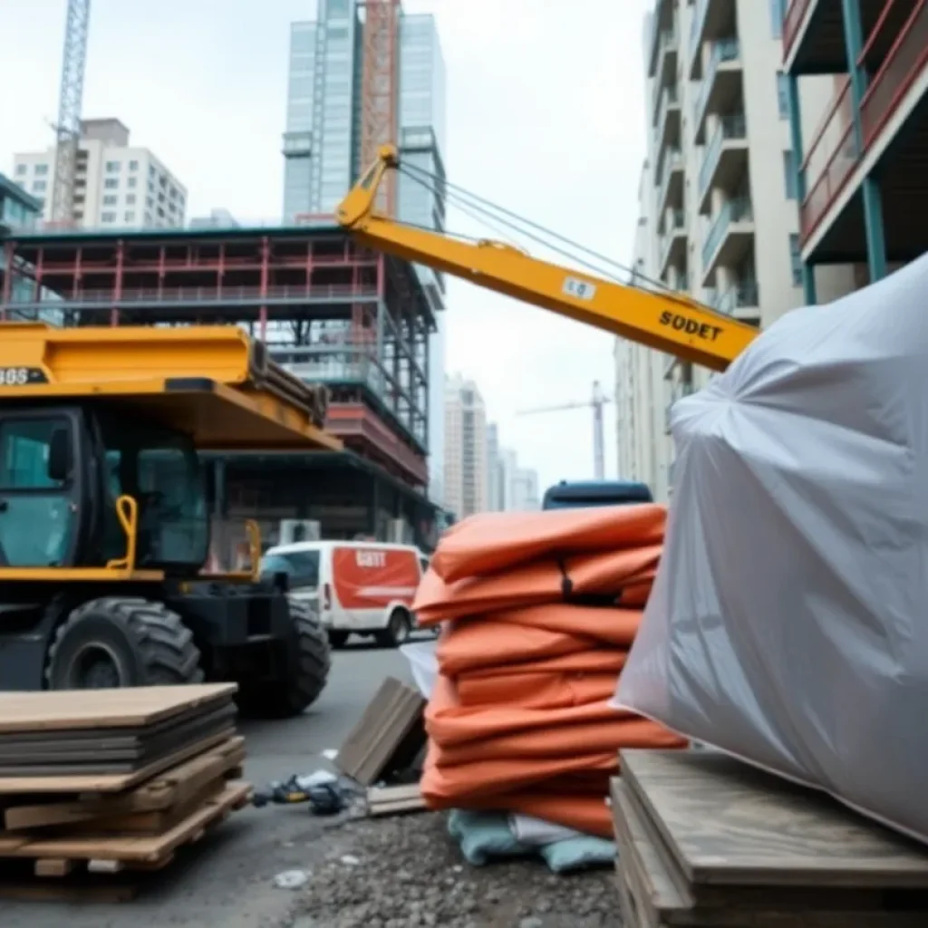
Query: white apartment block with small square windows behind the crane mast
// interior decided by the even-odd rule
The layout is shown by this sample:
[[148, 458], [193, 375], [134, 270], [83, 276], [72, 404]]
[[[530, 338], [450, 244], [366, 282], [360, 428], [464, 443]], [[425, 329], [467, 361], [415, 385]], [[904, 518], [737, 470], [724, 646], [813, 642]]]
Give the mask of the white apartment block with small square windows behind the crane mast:
[[[51, 217], [55, 148], [13, 156], [13, 179]], [[129, 144], [117, 119], [84, 120], [74, 183], [74, 222], [87, 228], [179, 228], [187, 187], [148, 148]]]

